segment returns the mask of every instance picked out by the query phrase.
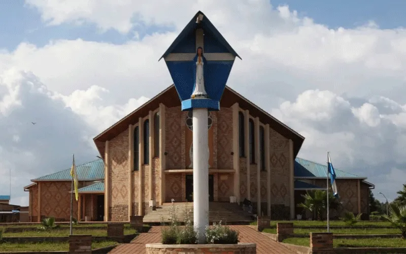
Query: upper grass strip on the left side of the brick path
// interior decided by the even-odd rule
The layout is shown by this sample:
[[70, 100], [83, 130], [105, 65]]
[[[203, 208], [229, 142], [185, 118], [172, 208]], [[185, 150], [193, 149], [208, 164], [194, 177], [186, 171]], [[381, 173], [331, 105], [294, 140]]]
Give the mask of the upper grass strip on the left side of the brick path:
[[[124, 235], [136, 234], [134, 229], [124, 228]], [[73, 229], [74, 235], [92, 235], [92, 236], [107, 236], [106, 229]], [[24, 231], [18, 233], [3, 233], [3, 236], [69, 236], [69, 228], [59, 228], [46, 231]]]

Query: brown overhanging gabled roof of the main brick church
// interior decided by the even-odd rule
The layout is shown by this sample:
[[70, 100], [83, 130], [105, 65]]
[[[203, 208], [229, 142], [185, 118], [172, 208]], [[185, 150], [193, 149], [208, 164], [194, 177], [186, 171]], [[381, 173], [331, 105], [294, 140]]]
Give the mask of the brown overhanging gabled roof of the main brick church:
[[[106, 141], [112, 140], [114, 137], [127, 130], [129, 124], [136, 124], [139, 117], [147, 116], [149, 111], [157, 109], [160, 103], [164, 104], [168, 108], [181, 106], [181, 101], [179, 99], [175, 85], [171, 85], [170, 87], [166, 88], [157, 96], [146, 102], [144, 105], [132, 111], [127, 116], [110, 126], [106, 131], [97, 135], [93, 139], [93, 141], [96, 144], [100, 156], [103, 158], [105, 156]], [[239, 94], [238, 92], [226, 86], [220, 101], [220, 107], [229, 108], [235, 103], [238, 103], [240, 108], [242, 108], [243, 110], [248, 109], [250, 111], [250, 115], [252, 115], [253, 117], [258, 117], [259, 121], [261, 121], [262, 123], [268, 123], [270, 128], [277, 131], [285, 138], [291, 139], [293, 141], [293, 154], [296, 157], [301, 145], [303, 144], [303, 136], [293, 131], [286, 124], [282, 123], [269, 113], [260, 109], [258, 106], [241, 96], [241, 94]]]

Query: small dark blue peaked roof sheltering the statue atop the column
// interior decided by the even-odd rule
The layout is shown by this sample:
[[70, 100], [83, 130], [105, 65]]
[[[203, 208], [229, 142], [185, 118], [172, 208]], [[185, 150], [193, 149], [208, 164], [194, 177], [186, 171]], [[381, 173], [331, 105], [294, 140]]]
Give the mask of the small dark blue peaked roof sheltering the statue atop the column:
[[[203, 20], [199, 24], [197, 24], [196, 18], [200, 14], [203, 15], [204, 17], [203, 17]], [[175, 41], [171, 44], [171, 46], [169, 46], [169, 48], [165, 51], [165, 53], [163, 53], [163, 55], [159, 58], [159, 60], [162, 59], [163, 57], [166, 57], [168, 54], [170, 54], [176, 48], [176, 46], [178, 46], [178, 44], [181, 41], [183, 41], [187, 35], [189, 35], [191, 33], [191, 31], [193, 31], [195, 28], [198, 28], [198, 27], [201, 27], [204, 30], [210, 31], [213, 34], [214, 38], [216, 40], [218, 40], [231, 54], [233, 54], [241, 59], [241, 57], [237, 54], [237, 52], [235, 52], [234, 49], [232, 49], [230, 44], [228, 44], [228, 42], [224, 39], [224, 37], [220, 34], [220, 32], [212, 24], [212, 22], [210, 22], [210, 20], [207, 18], [207, 16], [204, 13], [202, 13], [201, 11], [198, 11], [193, 16], [193, 18], [189, 21], [189, 23], [185, 26], [185, 28], [183, 28], [183, 30], [178, 35], [178, 37], [175, 39]]]

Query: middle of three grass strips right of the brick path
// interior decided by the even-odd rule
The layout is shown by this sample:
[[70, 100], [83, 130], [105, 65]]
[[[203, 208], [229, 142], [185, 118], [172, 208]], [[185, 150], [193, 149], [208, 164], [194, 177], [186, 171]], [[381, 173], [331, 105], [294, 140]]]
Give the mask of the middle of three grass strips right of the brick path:
[[[263, 232], [276, 234], [276, 228], [264, 229]], [[309, 235], [310, 232], [327, 232], [323, 229], [293, 229], [294, 234]], [[400, 234], [400, 230], [393, 229], [330, 229], [330, 232], [338, 235], [397, 235]]]

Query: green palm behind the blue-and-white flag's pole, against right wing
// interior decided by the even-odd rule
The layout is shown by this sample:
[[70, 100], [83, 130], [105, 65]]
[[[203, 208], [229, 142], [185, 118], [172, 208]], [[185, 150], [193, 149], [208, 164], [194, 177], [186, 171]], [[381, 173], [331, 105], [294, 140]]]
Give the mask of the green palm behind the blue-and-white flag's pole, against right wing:
[[[302, 195], [304, 202], [298, 204], [298, 207], [302, 207], [316, 214], [316, 218], [321, 220], [322, 212], [327, 210], [327, 195], [325, 190], [308, 190], [306, 194]], [[336, 210], [340, 206], [340, 202], [334, 197], [334, 195], [328, 193], [328, 205], [329, 209]]]

